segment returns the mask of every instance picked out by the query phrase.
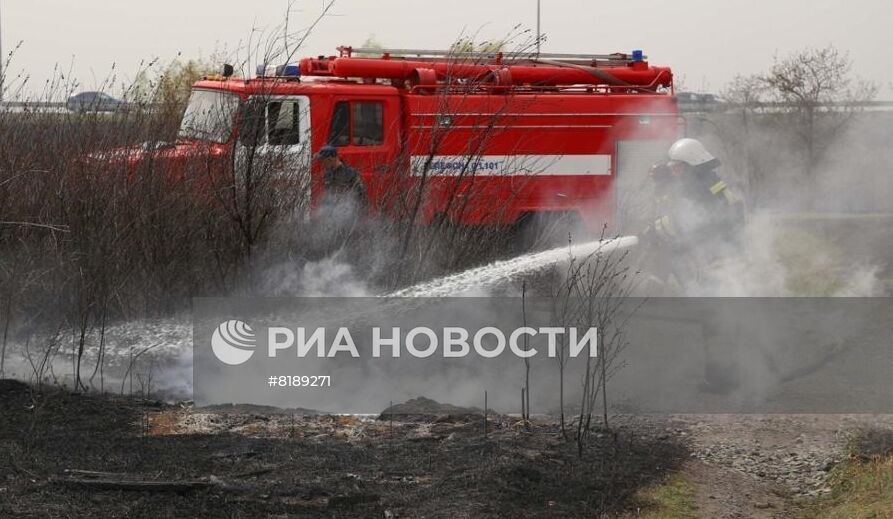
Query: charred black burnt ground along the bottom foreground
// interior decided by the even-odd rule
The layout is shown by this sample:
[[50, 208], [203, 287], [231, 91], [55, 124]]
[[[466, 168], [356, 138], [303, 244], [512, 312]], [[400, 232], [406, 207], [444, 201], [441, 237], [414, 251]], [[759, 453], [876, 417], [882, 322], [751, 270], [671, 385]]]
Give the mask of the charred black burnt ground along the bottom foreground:
[[[620, 427], [594, 434], [578, 459], [554, 426], [528, 432], [506, 418], [486, 437], [477, 420], [439, 421], [424, 436], [408, 433], [418, 424], [382, 424], [350, 441], [146, 435], [146, 414], [165, 409], [0, 381], [0, 517], [597, 516], [633, 507], [637, 489], [687, 456], [657, 432]], [[217, 484], [96, 490], [66, 484], [67, 469]]]

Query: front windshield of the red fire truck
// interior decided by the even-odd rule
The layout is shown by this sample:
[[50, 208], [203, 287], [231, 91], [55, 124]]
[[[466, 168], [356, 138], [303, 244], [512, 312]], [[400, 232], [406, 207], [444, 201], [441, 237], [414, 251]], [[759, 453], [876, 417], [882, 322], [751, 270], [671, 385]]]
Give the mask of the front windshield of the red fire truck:
[[216, 90], [193, 90], [177, 137], [226, 142], [233, 129], [239, 96]]

